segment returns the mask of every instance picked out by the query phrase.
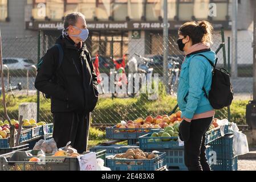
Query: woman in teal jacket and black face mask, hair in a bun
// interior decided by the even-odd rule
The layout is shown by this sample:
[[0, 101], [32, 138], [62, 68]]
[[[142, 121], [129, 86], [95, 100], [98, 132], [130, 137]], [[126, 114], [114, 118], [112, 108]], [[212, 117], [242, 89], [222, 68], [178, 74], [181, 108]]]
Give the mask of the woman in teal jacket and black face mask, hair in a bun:
[[[205, 137], [215, 111], [206, 94], [212, 84], [212, 66], [216, 54], [209, 45], [213, 27], [209, 22], [188, 22], [178, 31], [178, 47], [185, 52], [178, 84], [178, 106], [182, 111], [180, 138], [184, 140], [185, 164], [189, 170], [209, 171]], [[205, 92], [204, 92], [205, 90]]]

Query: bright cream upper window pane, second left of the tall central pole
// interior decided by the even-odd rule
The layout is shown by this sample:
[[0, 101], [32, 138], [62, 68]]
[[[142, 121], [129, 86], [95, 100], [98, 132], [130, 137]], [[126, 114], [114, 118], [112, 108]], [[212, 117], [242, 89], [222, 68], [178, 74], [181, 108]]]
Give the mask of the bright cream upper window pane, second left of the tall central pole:
[[144, 0], [128, 0], [128, 16], [132, 20], [140, 20], [143, 13]]

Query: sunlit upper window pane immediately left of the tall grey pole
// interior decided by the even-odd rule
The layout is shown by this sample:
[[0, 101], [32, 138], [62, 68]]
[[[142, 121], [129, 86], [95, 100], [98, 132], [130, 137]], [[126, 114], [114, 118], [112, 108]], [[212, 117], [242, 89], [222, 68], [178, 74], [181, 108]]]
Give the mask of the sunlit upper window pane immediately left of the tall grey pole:
[[160, 0], [147, 0], [146, 5], [146, 18], [147, 20], [158, 20], [161, 15], [163, 1]]

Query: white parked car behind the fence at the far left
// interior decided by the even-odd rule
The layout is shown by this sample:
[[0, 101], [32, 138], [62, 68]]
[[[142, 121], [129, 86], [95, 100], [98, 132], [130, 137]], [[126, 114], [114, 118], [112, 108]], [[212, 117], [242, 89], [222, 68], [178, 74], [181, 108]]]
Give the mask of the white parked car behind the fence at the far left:
[[7, 65], [9, 69], [29, 69], [31, 65], [35, 65], [34, 61], [20, 57], [5, 57], [3, 64]]

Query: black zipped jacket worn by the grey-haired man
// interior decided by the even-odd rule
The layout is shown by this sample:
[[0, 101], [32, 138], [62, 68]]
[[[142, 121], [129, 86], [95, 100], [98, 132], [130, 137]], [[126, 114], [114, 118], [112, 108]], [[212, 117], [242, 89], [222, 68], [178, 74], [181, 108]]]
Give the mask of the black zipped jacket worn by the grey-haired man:
[[68, 36], [60, 36], [56, 43], [63, 48], [62, 64], [58, 69], [58, 47], [48, 49], [38, 69], [35, 88], [51, 96], [52, 113], [88, 113], [96, 106], [99, 93], [97, 76], [86, 44], [77, 48]]

